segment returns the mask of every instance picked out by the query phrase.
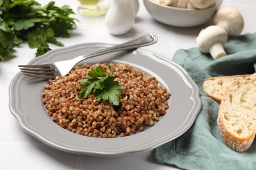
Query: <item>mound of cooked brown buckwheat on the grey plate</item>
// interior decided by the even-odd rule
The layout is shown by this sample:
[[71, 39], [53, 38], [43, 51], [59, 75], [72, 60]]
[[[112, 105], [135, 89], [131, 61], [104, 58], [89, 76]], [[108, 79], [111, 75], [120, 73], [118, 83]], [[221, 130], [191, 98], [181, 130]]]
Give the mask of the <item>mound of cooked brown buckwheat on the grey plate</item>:
[[[91, 69], [101, 66], [124, 87], [119, 94], [119, 105], [96, 101], [93, 94], [78, 98], [81, 80]], [[61, 127], [89, 137], [124, 137], [154, 126], [169, 108], [171, 93], [147, 75], [129, 64], [96, 63], [74, 67], [69, 75], [49, 80], [42, 93], [48, 114]]]

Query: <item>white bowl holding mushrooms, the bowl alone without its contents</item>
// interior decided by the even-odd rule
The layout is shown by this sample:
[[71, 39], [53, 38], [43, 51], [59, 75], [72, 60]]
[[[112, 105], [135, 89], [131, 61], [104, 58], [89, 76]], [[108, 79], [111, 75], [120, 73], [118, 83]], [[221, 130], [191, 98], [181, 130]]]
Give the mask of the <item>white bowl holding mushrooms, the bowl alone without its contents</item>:
[[159, 22], [177, 27], [192, 27], [211, 20], [223, 0], [215, 0], [215, 5], [208, 9], [180, 9], [161, 5], [156, 0], [143, 0], [143, 2], [146, 10]]

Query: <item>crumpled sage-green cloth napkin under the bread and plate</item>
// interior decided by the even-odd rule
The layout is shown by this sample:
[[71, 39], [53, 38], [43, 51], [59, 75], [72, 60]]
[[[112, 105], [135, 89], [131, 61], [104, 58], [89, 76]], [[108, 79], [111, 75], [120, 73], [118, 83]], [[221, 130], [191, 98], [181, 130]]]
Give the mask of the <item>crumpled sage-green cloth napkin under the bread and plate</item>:
[[219, 103], [202, 88], [203, 81], [211, 76], [255, 73], [256, 33], [230, 39], [224, 49], [228, 56], [216, 61], [198, 48], [175, 53], [173, 61], [184, 67], [200, 88], [202, 109], [186, 133], [156, 148], [155, 161], [181, 169], [256, 169], [256, 141], [245, 152], [228, 148], [217, 126]]

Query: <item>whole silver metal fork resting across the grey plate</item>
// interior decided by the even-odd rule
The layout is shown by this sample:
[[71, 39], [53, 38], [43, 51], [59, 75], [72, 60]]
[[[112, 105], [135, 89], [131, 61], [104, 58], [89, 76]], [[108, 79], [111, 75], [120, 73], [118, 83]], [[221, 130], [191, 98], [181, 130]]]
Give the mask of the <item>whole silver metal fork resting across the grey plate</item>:
[[117, 52], [119, 50], [136, 49], [142, 46], [154, 44], [157, 41], [158, 37], [154, 33], [147, 33], [122, 44], [117, 44], [115, 46], [104, 48], [83, 56], [78, 56], [73, 59], [43, 65], [18, 65], [18, 67], [21, 67], [21, 72], [26, 76], [54, 79], [56, 76], [67, 75], [77, 63], [83, 61], [84, 59], [93, 58], [102, 54], [108, 54], [110, 52]]

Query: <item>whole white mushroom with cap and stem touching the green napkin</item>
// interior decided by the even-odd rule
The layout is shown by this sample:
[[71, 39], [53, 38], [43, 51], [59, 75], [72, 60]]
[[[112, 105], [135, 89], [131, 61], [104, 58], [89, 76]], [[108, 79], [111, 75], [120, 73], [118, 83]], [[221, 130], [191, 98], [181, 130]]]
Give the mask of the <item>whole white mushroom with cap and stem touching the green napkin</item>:
[[223, 27], [211, 25], [202, 29], [196, 42], [199, 49], [203, 53], [210, 53], [213, 59], [218, 59], [226, 56], [224, 51], [224, 44], [228, 41], [228, 35]]

